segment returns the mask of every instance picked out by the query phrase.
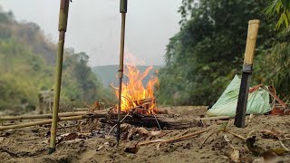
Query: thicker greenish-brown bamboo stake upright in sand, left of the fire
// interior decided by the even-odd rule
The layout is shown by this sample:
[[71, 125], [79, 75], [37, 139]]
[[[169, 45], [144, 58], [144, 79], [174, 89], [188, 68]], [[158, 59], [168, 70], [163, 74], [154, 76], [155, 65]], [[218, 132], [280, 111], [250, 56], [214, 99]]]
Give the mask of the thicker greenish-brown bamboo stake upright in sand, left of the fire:
[[64, 37], [67, 27], [67, 18], [69, 13], [70, 0], [61, 0], [60, 5], [60, 15], [59, 15], [59, 42], [58, 42], [58, 53], [57, 53], [57, 64], [55, 68], [55, 82], [54, 82], [54, 101], [53, 101], [53, 120], [51, 129], [51, 142], [48, 153], [52, 154], [55, 151], [55, 141], [56, 141], [56, 129], [58, 121], [58, 109], [61, 93], [61, 82], [62, 82], [62, 72], [63, 72], [63, 46]]

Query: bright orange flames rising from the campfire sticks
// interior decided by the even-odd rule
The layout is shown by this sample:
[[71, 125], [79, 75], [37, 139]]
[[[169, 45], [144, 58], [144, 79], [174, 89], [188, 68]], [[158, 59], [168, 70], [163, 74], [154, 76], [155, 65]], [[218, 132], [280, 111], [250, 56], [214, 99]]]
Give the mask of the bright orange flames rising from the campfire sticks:
[[[141, 112], [147, 114], [154, 113], [157, 108], [155, 104], [154, 97], [154, 84], [158, 82], [156, 76], [152, 77], [147, 83], [146, 88], [144, 88], [142, 80], [149, 74], [153, 66], [149, 66], [145, 72], [140, 72], [135, 65], [126, 65], [124, 75], [128, 77], [129, 81], [127, 84], [122, 82], [121, 85], [121, 111], [129, 112], [132, 109], [140, 106], [141, 101], [151, 100], [148, 108]], [[119, 97], [119, 88], [115, 88], [115, 94], [117, 98]]]

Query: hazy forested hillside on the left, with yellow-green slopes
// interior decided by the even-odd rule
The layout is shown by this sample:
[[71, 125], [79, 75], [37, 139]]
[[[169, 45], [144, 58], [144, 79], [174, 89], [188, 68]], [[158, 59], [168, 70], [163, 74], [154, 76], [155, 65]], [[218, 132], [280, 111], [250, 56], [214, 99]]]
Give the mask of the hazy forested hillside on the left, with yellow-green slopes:
[[[19, 23], [12, 12], [0, 10], [0, 110], [37, 107], [38, 93], [53, 89], [56, 50], [57, 44], [37, 24]], [[86, 53], [65, 50], [61, 101], [111, 101], [111, 91], [102, 86], [88, 60]]]

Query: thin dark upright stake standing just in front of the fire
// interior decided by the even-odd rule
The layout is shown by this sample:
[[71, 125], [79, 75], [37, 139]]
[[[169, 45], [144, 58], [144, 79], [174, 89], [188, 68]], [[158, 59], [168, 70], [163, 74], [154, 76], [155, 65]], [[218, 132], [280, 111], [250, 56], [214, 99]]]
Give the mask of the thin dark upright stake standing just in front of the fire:
[[123, 78], [124, 67], [124, 43], [125, 43], [125, 21], [127, 13], [127, 0], [120, 0], [121, 13], [121, 45], [120, 45], [120, 67], [119, 67], [119, 103], [118, 103], [118, 122], [117, 122], [117, 146], [119, 146], [121, 134], [121, 82]]

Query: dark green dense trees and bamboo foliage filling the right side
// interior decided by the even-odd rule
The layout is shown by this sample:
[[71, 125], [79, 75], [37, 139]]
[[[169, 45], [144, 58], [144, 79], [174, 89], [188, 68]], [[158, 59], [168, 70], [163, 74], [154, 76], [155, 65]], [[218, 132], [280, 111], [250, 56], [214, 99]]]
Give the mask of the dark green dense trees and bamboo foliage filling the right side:
[[[269, 3], [266, 3], [269, 2]], [[183, 0], [180, 30], [170, 38], [160, 70], [160, 103], [208, 105], [242, 72], [247, 22], [260, 19], [252, 85], [274, 85], [290, 99], [290, 2]]]

